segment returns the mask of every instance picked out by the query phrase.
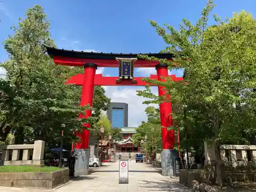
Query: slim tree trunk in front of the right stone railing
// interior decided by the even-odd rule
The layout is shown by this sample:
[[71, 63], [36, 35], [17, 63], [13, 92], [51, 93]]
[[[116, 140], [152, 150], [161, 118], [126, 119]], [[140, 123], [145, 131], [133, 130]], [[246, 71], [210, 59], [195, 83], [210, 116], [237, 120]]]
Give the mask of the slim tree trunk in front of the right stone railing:
[[[223, 169], [222, 169], [220, 145], [218, 142], [214, 142], [214, 152], [215, 152], [215, 157], [217, 161], [217, 165], [216, 165], [217, 184], [219, 186], [222, 186], [225, 173], [223, 173]], [[224, 169], [224, 172], [225, 172], [225, 169]]]

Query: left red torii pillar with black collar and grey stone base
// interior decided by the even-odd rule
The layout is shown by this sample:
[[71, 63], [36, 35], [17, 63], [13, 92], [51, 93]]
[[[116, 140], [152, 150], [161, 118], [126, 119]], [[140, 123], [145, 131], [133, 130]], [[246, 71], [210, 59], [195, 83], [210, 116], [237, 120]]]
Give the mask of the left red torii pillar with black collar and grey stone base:
[[[95, 63], [86, 63], [84, 65], [84, 78], [82, 84], [82, 94], [80, 105], [93, 106], [93, 92], [94, 92], [94, 78], [97, 70], [97, 65]], [[92, 110], [86, 110], [86, 115], [79, 115], [79, 118], [89, 118], [92, 116]], [[76, 160], [75, 166], [75, 175], [88, 175], [89, 174], [89, 158], [90, 158], [90, 149], [89, 149], [89, 135], [90, 131], [86, 129], [90, 127], [89, 123], [83, 124], [85, 126], [81, 133], [76, 133], [79, 136], [79, 142], [75, 145], [75, 151], [83, 156]], [[85, 157], [84, 157], [85, 156]], [[84, 162], [85, 161], [87, 162]], [[82, 162], [83, 161], [83, 162]], [[86, 164], [86, 166], [82, 164]], [[81, 167], [81, 168], [80, 168]], [[77, 173], [76, 173], [77, 172]]]

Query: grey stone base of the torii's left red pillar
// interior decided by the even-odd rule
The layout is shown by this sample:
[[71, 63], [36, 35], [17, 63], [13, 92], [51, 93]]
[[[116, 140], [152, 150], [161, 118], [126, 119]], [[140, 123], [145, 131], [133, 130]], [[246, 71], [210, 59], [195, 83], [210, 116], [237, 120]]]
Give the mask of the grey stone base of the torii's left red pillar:
[[73, 157], [75, 158], [74, 176], [88, 175], [90, 150], [76, 148]]

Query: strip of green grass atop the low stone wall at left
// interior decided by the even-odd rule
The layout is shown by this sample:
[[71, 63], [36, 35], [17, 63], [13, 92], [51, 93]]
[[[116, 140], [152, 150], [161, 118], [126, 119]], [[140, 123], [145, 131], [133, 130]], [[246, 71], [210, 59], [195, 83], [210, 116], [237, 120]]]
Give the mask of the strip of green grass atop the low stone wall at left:
[[16, 166], [0, 166], [0, 173], [23, 173], [23, 172], [54, 172], [62, 168], [54, 166], [31, 166], [31, 165], [16, 165]]

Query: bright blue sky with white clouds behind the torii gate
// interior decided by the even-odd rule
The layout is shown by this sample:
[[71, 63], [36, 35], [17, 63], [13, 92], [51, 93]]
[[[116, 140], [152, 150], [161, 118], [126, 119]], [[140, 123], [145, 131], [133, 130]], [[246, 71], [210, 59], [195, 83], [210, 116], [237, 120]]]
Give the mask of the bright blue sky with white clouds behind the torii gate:
[[[156, 20], [159, 24], [167, 23], [178, 29], [182, 18], [195, 23], [206, 4], [206, 0], [2, 0], [1, 2], [1, 42], [12, 33], [10, 27], [17, 24], [18, 17], [24, 18], [28, 8], [39, 4], [48, 15], [51, 37], [58, 48], [113, 53], [159, 52], [165, 48], [165, 44], [147, 20]], [[255, 0], [216, 0], [214, 3], [217, 7], [212, 14], [216, 13], [222, 18], [231, 17], [233, 12], [242, 9], [256, 15]], [[214, 24], [212, 19], [209, 20], [209, 25], [211, 24]], [[0, 61], [5, 61], [7, 58], [1, 45]], [[113, 68], [99, 69], [98, 73], [100, 72], [103, 75], [118, 76], [118, 70]], [[151, 73], [155, 73], [155, 70], [135, 69], [135, 76], [149, 76]], [[181, 71], [172, 73], [177, 76], [182, 75]], [[113, 101], [122, 100], [131, 105], [130, 126], [139, 124], [145, 118], [144, 115], [141, 115], [141, 118], [137, 117], [141, 111], [139, 114], [132, 114], [134, 111], [132, 105], [135, 109], [138, 108], [138, 104], [132, 103], [136, 97], [136, 90], [135, 87], [106, 88], [107, 95]], [[128, 98], [129, 92], [134, 93], [134, 97]], [[140, 98], [136, 97], [136, 100], [140, 101]], [[140, 106], [143, 112], [145, 106]]]

